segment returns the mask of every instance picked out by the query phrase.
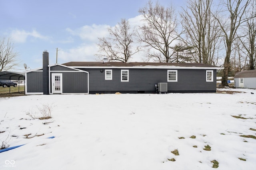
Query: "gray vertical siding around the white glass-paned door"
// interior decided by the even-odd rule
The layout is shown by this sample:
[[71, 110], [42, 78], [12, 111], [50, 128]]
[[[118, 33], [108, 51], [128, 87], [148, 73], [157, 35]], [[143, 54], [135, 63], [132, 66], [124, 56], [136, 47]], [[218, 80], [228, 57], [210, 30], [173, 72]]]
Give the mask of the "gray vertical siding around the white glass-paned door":
[[52, 84], [52, 73], [62, 73], [62, 93], [88, 93], [88, 73], [51, 72], [50, 84]]

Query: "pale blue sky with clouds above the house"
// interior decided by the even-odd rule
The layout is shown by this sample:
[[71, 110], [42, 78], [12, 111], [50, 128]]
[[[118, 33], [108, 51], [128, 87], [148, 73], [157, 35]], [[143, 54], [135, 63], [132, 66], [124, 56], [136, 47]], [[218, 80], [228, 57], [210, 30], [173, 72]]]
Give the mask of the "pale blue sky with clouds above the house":
[[[69, 61], [95, 61], [98, 37], [108, 36], [107, 27], [122, 18], [131, 25], [140, 23], [138, 10], [148, 0], [0, 0], [0, 37], [11, 37], [23, 63], [31, 69], [42, 66], [42, 53], [49, 52], [50, 64]], [[156, 0], [152, 0], [156, 2]], [[172, 4], [177, 14], [186, 0], [158, 0]], [[141, 61], [134, 57], [133, 61]]]

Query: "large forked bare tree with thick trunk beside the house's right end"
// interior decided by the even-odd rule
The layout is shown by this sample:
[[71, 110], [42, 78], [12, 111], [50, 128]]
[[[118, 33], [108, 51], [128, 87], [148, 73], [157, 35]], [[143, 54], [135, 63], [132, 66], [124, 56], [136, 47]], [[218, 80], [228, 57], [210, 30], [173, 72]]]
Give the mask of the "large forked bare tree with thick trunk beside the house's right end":
[[[243, 3], [244, 2], [244, 3]], [[232, 43], [235, 39], [238, 38], [237, 31], [240, 28], [241, 24], [246, 21], [244, 18], [244, 13], [248, 7], [250, 0], [225, 0], [223, 6], [225, 7], [222, 12], [216, 12], [214, 14], [214, 18], [218, 21], [222, 32], [224, 33], [224, 41], [226, 47], [226, 57], [224, 60], [224, 69], [222, 73], [222, 86], [228, 86], [228, 74], [230, 72], [230, 55], [232, 51]], [[228, 20], [224, 20], [220, 18], [220, 14], [222, 13], [223, 16], [228, 14]]]

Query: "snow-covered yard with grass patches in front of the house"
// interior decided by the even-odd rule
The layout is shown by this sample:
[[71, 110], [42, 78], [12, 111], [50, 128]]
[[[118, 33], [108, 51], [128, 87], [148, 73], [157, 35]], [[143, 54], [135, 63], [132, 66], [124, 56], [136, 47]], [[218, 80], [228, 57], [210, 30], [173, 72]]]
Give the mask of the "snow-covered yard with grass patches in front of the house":
[[[256, 136], [256, 90], [223, 90], [245, 93], [0, 98], [1, 144], [23, 145], [0, 169], [255, 170], [256, 139], [241, 135]], [[44, 105], [51, 119], [27, 115]]]

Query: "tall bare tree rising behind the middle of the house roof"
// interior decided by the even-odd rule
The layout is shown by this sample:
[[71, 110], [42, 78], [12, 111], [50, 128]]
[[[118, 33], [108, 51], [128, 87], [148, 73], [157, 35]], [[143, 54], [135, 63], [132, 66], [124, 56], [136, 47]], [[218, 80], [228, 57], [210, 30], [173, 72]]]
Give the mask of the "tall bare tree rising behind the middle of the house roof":
[[175, 53], [170, 48], [176, 40], [177, 19], [172, 6], [164, 7], [158, 2], [155, 5], [149, 1], [144, 8], [138, 11], [145, 22], [140, 27], [139, 39], [149, 49], [147, 57], [158, 62], [173, 62], [172, 55]]

